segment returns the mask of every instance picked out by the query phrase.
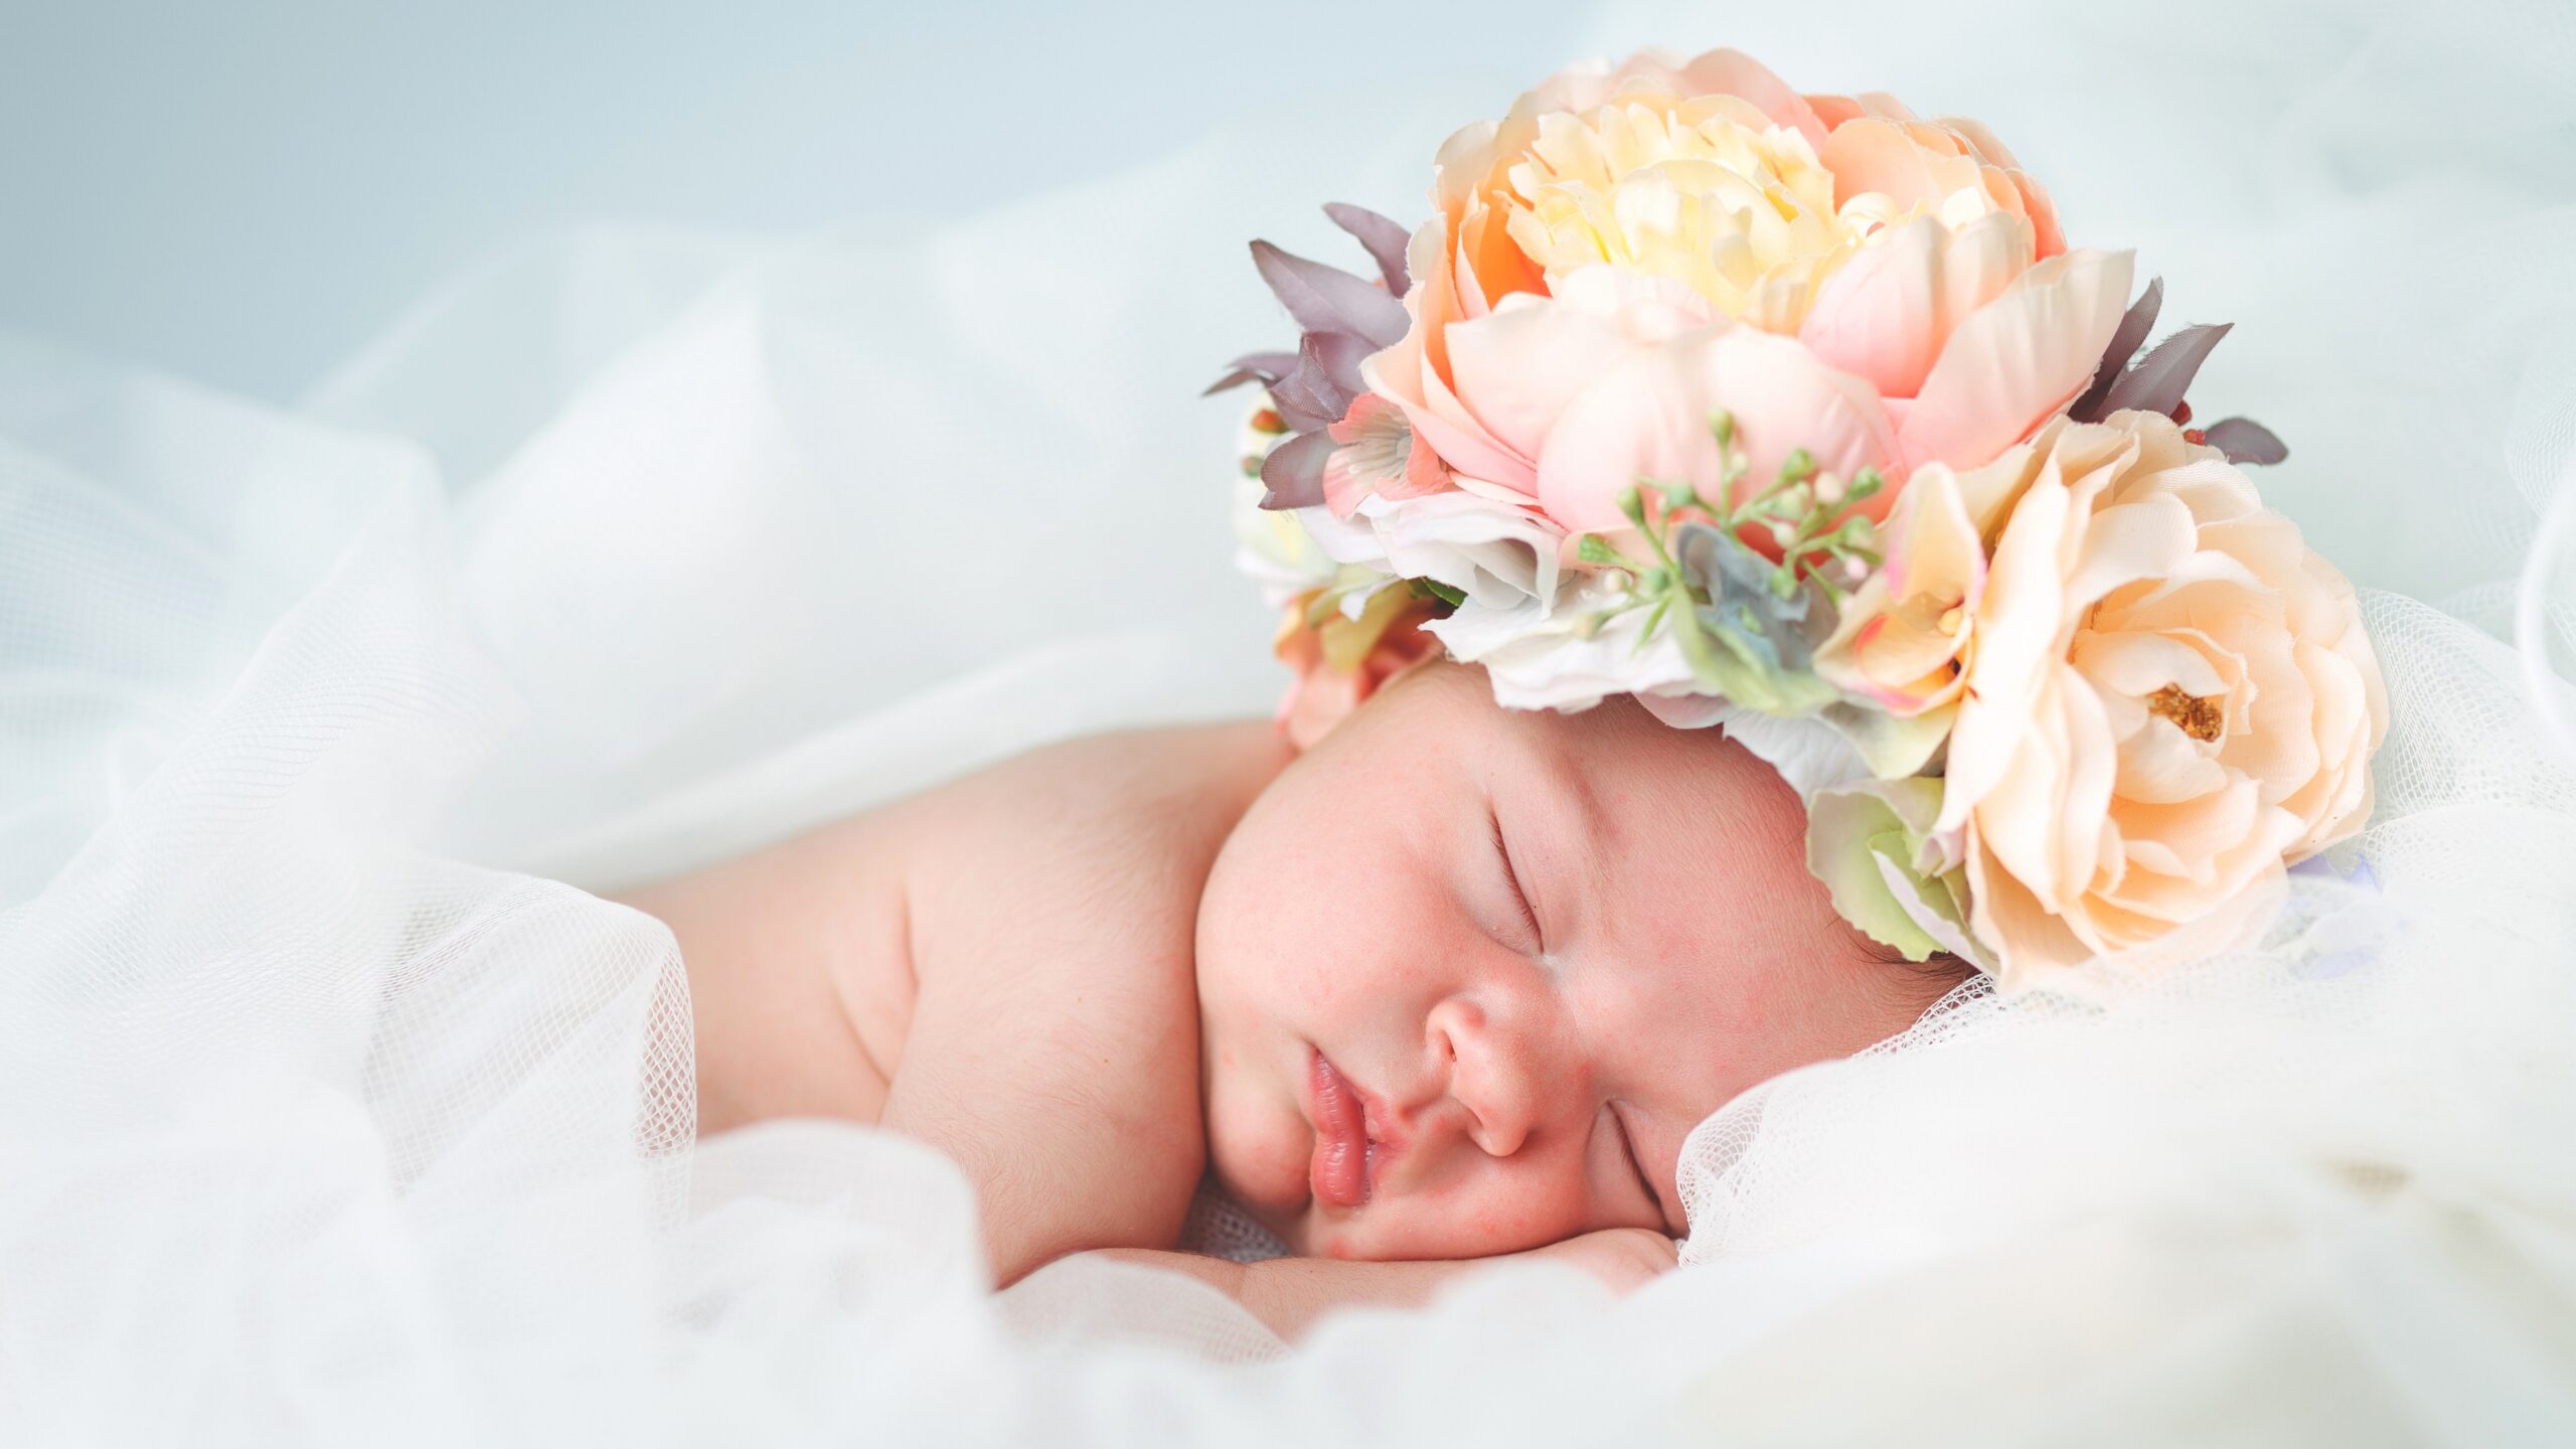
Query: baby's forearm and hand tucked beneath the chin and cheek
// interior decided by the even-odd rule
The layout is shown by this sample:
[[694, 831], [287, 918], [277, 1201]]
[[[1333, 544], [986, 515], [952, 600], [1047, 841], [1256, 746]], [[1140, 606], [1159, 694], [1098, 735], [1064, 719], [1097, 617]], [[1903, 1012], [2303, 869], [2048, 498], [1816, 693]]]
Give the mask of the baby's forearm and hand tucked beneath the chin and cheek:
[[1466, 1261], [1363, 1263], [1347, 1258], [1270, 1258], [1262, 1263], [1229, 1263], [1224, 1258], [1200, 1258], [1198, 1253], [1159, 1253], [1149, 1248], [1110, 1248], [1100, 1258], [1188, 1274], [1244, 1305], [1252, 1318], [1260, 1318], [1280, 1338], [1301, 1338], [1306, 1328], [1337, 1307], [1422, 1307], [1440, 1284], [1494, 1263], [1566, 1263], [1597, 1276], [1615, 1292], [1628, 1292], [1672, 1269], [1674, 1253], [1674, 1240], [1649, 1227], [1605, 1227], [1528, 1253]]

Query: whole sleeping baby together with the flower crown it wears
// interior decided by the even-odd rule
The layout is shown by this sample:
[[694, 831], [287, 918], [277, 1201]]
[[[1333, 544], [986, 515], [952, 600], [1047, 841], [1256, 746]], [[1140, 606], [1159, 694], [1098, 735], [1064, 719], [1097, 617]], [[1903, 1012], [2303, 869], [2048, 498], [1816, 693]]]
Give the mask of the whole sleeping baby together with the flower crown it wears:
[[[1283, 1333], [1512, 1253], [1633, 1284], [1744, 1088], [2367, 820], [2352, 585], [2239, 467], [2280, 438], [2190, 425], [2226, 327], [2146, 345], [2161, 284], [1984, 126], [1646, 52], [1430, 201], [1327, 209], [1365, 273], [1255, 242], [1296, 348], [1218, 382], [1311, 748], [1079, 740], [636, 892], [701, 1132], [912, 1134], [999, 1281], [1121, 1253]], [[1296, 1256], [1175, 1253], [1203, 1178]]]

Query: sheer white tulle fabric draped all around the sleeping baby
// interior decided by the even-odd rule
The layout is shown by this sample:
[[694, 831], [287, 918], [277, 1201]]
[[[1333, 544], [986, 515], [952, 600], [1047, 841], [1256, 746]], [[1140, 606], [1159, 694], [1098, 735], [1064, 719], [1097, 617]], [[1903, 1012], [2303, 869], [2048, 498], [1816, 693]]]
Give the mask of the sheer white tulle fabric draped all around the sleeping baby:
[[[2262, 482], [2393, 691], [2334, 869], [1728, 1106], [1628, 1299], [1510, 1269], [1285, 1354], [1141, 1269], [994, 1297], [927, 1150], [693, 1142], [672, 944], [580, 887], [1267, 709], [1193, 389], [1280, 335], [1242, 235], [1401, 209], [1453, 98], [943, 229], [531, 248], [286, 413], [13, 340], [0, 1441], [2576, 1434], [2566, 15], [2228, 8], [2257, 64], [2027, 5], [1940, 80], [1947, 13], [1837, 13], [1814, 75], [1814, 15], [1801, 54], [1700, 10], [1605, 39], [1978, 111], [2241, 322], [2202, 394], [2290, 438]], [[1999, 57], [2097, 126], [1996, 113]], [[2141, 72], [2154, 126], [2074, 106]]]

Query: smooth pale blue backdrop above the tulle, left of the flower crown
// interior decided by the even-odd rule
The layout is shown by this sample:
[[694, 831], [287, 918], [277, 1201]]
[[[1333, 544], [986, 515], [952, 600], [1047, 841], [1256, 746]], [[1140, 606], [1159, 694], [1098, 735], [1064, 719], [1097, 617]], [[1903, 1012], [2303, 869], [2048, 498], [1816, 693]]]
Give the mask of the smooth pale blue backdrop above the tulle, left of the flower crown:
[[1584, 49], [1579, 5], [1440, 13], [0, 0], [0, 327], [289, 400], [551, 227], [961, 214], [1319, 93], [1499, 103]]

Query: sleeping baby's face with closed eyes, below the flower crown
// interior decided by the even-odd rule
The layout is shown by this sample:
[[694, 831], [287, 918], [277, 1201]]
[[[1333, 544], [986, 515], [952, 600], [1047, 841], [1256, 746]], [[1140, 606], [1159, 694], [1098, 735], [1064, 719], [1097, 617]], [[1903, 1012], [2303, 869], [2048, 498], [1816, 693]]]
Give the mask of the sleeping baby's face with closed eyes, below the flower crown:
[[1298, 1253], [1685, 1230], [1682, 1137], [1906, 1029], [1803, 866], [1798, 797], [1633, 701], [1499, 709], [1427, 665], [1298, 758], [1208, 877], [1208, 1152]]

